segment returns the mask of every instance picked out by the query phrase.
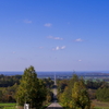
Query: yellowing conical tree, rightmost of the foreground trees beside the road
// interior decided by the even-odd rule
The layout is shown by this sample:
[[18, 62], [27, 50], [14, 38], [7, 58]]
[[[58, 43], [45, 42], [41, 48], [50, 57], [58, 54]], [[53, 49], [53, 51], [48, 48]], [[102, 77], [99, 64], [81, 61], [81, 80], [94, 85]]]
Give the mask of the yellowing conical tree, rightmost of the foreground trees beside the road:
[[72, 109], [90, 109], [90, 100], [83, 80], [74, 83], [71, 102]]

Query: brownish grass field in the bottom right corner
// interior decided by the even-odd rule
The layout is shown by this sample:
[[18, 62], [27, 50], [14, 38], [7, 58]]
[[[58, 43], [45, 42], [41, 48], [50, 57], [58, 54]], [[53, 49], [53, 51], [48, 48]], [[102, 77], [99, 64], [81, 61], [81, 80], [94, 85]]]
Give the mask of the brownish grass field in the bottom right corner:
[[93, 105], [95, 109], [109, 109], [109, 102], [93, 100]]

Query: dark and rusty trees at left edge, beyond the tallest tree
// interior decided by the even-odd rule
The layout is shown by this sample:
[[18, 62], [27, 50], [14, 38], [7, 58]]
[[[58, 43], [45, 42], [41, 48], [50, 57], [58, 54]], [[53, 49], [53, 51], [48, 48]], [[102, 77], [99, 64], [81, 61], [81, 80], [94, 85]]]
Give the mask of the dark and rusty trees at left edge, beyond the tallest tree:
[[0, 102], [15, 102], [15, 92], [21, 77], [22, 75], [0, 74]]

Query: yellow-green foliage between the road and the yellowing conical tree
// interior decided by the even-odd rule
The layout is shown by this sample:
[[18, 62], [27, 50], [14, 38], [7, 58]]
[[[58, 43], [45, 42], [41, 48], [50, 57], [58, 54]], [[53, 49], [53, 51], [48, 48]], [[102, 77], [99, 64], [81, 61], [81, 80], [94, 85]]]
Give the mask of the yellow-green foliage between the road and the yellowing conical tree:
[[[76, 74], [73, 74], [70, 81], [63, 80], [60, 82], [61, 84], [59, 84], [60, 85], [59, 87], [61, 89], [59, 90], [61, 92], [59, 92], [58, 98], [63, 104], [64, 107], [72, 108], [72, 102], [71, 102], [72, 101], [72, 88], [74, 87], [74, 83], [78, 81], [80, 81], [78, 76]], [[63, 88], [63, 86], [65, 88]]]

